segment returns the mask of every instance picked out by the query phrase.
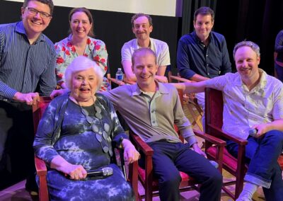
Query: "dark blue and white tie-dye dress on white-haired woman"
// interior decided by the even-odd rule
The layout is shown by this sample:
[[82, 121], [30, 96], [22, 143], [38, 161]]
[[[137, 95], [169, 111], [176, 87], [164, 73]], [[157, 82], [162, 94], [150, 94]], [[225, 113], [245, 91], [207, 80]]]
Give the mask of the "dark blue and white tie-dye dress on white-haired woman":
[[[101, 109], [101, 120], [93, 117], [103, 131], [105, 123], [110, 125], [108, 136], [118, 144], [120, 137], [126, 138], [114, 108], [105, 96], [97, 94], [95, 105]], [[94, 105], [85, 107], [91, 111]], [[94, 115], [94, 109], [93, 114]], [[71, 180], [63, 173], [49, 168], [47, 185], [50, 200], [134, 200], [131, 186], [120, 168], [110, 163], [110, 155], [104, 153], [100, 142], [81, 113], [81, 108], [64, 95], [55, 98], [46, 109], [37, 129], [34, 142], [35, 154], [47, 166], [58, 154], [69, 163], [82, 165], [86, 170], [103, 166], [113, 168], [112, 176], [103, 179]]]

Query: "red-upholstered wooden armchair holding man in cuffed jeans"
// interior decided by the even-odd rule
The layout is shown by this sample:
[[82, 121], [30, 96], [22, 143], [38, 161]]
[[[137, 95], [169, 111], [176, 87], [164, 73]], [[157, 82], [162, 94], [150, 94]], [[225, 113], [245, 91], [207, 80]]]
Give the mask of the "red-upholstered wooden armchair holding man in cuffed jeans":
[[[222, 92], [213, 88], [205, 89], [205, 132], [219, 139], [231, 139], [236, 142], [239, 146], [237, 159], [234, 158], [226, 148], [224, 148], [223, 154], [223, 168], [235, 176], [235, 180], [224, 183], [223, 190], [234, 200], [238, 198], [241, 191], [243, 190], [243, 178], [248, 170], [248, 166], [245, 164], [245, 151], [246, 139], [239, 137], [232, 137], [228, 133], [221, 130], [223, 125], [223, 98]], [[207, 157], [214, 159], [216, 155], [215, 147], [209, 147], [209, 144], [205, 144], [207, 150]], [[278, 159], [279, 163], [283, 165], [283, 156]], [[281, 166], [283, 168], [283, 166]], [[233, 193], [227, 185], [235, 184], [235, 193]]]

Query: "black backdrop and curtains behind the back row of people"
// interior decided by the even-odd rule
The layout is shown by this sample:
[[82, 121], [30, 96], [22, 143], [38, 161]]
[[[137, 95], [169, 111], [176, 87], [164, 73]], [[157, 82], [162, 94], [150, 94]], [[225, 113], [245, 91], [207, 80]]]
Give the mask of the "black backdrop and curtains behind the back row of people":
[[[233, 46], [241, 40], [252, 40], [261, 48], [260, 67], [273, 74], [273, 52], [275, 38], [283, 29], [282, 0], [183, 0], [177, 1], [183, 7], [183, 18], [151, 16], [154, 22], [152, 38], [168, 43], [173, 72], [178, 39], [193, 30], [192, 19], [196, 8], [210, 6], [214, 9], [214, 31], [223, 34], [233, 64]], [[20, 20], [22, 3], [0, 1], [0, 23], [13, 23]], [[161, 5], [166, 6], [166, 5]], [[87, 7], [87, 5], [86, 5]], [[68, 14], [71, 8], [55, 6], [54, 15], [45, 34], [57, 42], [66, 38], [69, 30]], [[110, 73], [112, 76], [120, 64], [120, 50], [124, 42], [134, 38], [130, 19], [132, 13], [91, 10], [94, 18], [96, 38], [103, 40], [108, 47]], [[235, 70], [233, 64], [233, 70]]]

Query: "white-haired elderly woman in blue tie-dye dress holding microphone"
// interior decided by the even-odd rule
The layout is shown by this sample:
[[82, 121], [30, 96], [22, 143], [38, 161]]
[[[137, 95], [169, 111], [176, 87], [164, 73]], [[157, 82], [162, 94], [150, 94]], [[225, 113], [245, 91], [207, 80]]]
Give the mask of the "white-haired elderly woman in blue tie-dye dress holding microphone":
[[[48, 166], [51, 200], [133, 200], [122, 171], [110, 163], [112, 144], [122, 143], [130, 163], [139, 153], [110, 101], [96, 93], [103, 79], [100, 67], [87, 57], [76, 57], [65, 76], [71, 92], [54, 98], [47, 107], [33, 144], [35, 155]], [[87, 176], [88, 170], [103, 167], [111, 167], [112, 176]]]

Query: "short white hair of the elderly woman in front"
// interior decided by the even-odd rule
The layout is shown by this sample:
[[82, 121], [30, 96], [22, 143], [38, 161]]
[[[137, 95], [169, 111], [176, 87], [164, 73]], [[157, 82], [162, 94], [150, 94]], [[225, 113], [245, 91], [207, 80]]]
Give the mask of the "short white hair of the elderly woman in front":
[[72, 76], [74, 73], [78, 71], [83, 71], [87, 69], [93, 69], [94, 73], [96, 74], [97, 79], [97, 88], [96, 91], [100, 88], [102, 81], [103, 81], [103, 71], [100, 69], [98, 64], [96, 62], [93, 62], [91, 59], [88, 59], [88, 57], [79, 56], [76, 57], [71, 64], [67, 67], [65, 71], [65, 80], [66, 80], [66, 86], [71, 90], [71, 82], [72, 82]]

